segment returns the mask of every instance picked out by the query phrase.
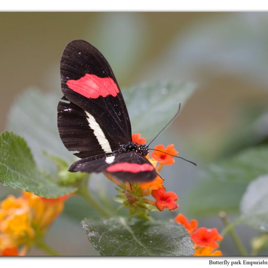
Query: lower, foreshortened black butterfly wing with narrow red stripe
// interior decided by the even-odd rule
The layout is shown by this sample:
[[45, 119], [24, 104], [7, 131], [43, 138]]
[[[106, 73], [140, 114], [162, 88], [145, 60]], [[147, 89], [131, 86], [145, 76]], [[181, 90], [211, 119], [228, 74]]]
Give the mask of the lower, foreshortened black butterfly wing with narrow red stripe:
[[157, 173], [153, 165], [136, 152], [121, 153], [97, 159], [96, 156], [86, 157], [75, 162], [70, 172], [107, 172], [123, 181], [151, 181]]

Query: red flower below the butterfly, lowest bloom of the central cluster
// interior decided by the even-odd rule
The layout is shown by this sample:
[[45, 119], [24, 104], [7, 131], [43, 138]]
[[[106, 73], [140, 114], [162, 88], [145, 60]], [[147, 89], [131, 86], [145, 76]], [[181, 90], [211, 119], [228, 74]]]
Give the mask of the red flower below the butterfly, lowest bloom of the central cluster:
[[155, 199], [155, 206], [159, 211], [169, 209], [170, 211], [176, 210], [179, 206], [175, 202], [178, 196], [173, 191], [166, 192], [165, 187], [153, 190], [153, 198]]

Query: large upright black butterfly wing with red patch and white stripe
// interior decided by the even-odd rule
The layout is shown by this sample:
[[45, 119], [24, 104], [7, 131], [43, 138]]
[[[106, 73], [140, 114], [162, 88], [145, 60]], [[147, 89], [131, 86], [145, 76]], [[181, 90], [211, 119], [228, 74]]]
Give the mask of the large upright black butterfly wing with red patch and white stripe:
[[132, 141], [115, 75], [94, 46], [83, 40], [70, 42], [61, 57], [60, 76], [64, 97], [57, 108], [58, 130], [69, 151], [83, 158], [114, 152]]

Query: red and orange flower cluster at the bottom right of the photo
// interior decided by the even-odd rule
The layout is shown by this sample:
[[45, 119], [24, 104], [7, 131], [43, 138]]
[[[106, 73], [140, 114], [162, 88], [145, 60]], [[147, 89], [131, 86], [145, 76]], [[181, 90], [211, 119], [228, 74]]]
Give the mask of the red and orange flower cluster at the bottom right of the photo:
[[191, 220], [190, 222], [183, 214], [178, 214], [174, 220], [182, 224], [188, 230], [191, 240], [194, 243], [195, 253], [193, 256], [222, 256], [221, 250], [215, 250], [219, 247], [217, 240], [223, 237], [218, 233], [216, 228], [207, 229], [205, 227], [197, 228], [198, 222]]

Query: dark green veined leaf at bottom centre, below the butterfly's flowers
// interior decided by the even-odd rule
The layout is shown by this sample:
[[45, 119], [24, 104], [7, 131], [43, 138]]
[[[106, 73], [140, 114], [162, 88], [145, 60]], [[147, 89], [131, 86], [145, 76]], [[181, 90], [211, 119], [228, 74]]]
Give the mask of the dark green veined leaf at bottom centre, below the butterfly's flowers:
[[123, 217], [82, 221], [88, 240], [101, 256], [188, 256], [188, 232], [170, 221], [127, 221]]

